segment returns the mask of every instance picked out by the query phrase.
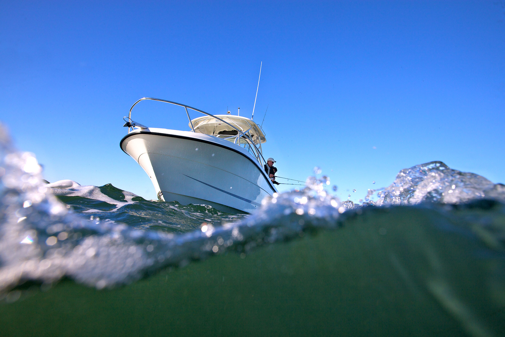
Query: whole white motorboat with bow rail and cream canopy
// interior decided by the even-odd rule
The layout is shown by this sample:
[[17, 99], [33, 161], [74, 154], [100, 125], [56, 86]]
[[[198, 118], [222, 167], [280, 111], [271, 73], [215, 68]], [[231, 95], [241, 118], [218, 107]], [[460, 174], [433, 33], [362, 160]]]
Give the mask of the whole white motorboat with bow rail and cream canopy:
[[[185, 109], [189, 131], [146, 127], [131, 119], [133, 107], [153, 100]], [[191, 119], [188, 109], [204, 114]], [[228, 112], [229, 113], [229, 112]], [[250, 213], [277, 192], [267, 176], [260, 125], [238, 115], [211, 115], [175, 102], [143, 98], [124, 117], [128, 134], [121, 149], [147, 173], [161, 201], [206, 204], [218, 210]]]

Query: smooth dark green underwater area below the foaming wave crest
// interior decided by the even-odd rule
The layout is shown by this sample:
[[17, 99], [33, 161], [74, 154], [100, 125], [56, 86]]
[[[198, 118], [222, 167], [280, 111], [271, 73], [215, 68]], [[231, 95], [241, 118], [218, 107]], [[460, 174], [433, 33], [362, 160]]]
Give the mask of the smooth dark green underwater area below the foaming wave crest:
[[69, 279], [43, 291], [25, 284], [21, 298], [0, 304], [0, 334], [505, 335], [502, 204], [344, 215], [334, 230], [306, 230], [112, 290]]

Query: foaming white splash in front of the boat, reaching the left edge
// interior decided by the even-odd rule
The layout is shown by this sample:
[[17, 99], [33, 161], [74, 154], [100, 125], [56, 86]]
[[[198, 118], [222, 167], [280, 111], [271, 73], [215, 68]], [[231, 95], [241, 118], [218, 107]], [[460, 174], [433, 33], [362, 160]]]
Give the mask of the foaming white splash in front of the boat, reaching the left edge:
[[324, 176], [310, 177], [302, 191], [264, 200], [242, 221], [220, 227], [206, 222], [201, 230], [183, 234], [139, 230], [96, 216], [111, 209], [91, 209], [88, 220], [54, 195], [96, 200], [112, 211], [141, 198], [124, 191], [111, 198], [105, 189], [71, 180], [45, 184], [34, 155], [16, 152], [4, 129], [0, 134], [0, 293], [27, 280], [52, 283], [63, 276], [99, 289], [129, 283], [163, 266], [229, 249], [247, 252], [309, 227], [333, 228], [341, 213], [338, 199], [323, 189], [329, 183]]

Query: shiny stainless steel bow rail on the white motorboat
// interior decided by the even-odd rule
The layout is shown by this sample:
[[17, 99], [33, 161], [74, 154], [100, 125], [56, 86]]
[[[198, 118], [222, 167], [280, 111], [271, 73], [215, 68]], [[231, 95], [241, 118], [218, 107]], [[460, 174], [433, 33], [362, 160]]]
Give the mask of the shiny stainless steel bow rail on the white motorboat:
[[[180, 103], [176, 103], [176, 102], [171, 102], [171, 101], [166, 101], [166, 100], [161, 100], [161, 99], [155, 99], [155, 98], [150, 98], [150, 97], [144, 97], [144, 98], [141, 98], [140, 100], [138, 100], [137, 102], [135, 102], [131, 108], [130, 108], [130, 111], [128, 113], [128, 117], [123, 117], [123, 119], [125, 120], [125, 118], [128, 118], [128, 120], [125, 120], [125, 125], [123, 126], [128, 126], [128, 133], [130, 132], [130, 128], [133, 130], [133, 127], [140, 127], [140, 128], [147, 128], [146, 126], [140, 124], [140, 123], [137, 123], [137, 122], [134, 122], [131, 120], [131, 111], [133, 109], [134, 106], [137, 105], [137, 103], [141, 102], [141, 101], [145, 101], [145, 100], [151, 100], [151, 101], [158, 101], [158, 102], [164, 102], [164, 103], [170, 103], [170, 104], [173, 104], [173, 105], [177, 105], [179, 107], [183, 107], [186, 111], [186, 115], [188, 117], [188, 120], [189, 120], [189, 124], [191, 125], [191, 129], [193, 132], [194, 131], [194, 127], [193, 127], [193, 122], [191, 122], [191, 118], [189, 117], [189, 112], [188, 112], [188, 109], [191, 109], [191, 110], [194, 110], [196, 112], [199, 112], [199, 113], [202, 113], [204, 115], [207, 115], [207, 116], [210, 116], [210, 117], [213, 117], [213, 118], [216, 118], [218, 120], [220, 120], [221, 122], [231, 126], [233, 129], [237, 130], [237, 135], [236, 136], [232, 136], [235, 138], [235, 141], [234, 143], [236, 144], [237, 141], [238, 141], [238, 145], [240, 146], [240, 138], [242, 135], [246, 140], [247, 140], [247, 145], [249, 146], [249, 152], [254, 155], [256, 157], [256, 159], [258, 160], [258, 162], [260, 163], [260, 165], [265, 165], [267, 164], [267, 161], [265, 160], [265, 158], [263, 158], [263, 154], [262, 154], [262, 151], [261, 151], [261, 137], [259, 138], [259, 141], [260, 141], [260, 149], [258, 149], [258, 147], [255, 145], [254, 141], [252, 140], [252, 136], [250, 134], [250, 130], [254, 127], [254, 126], [251, 126], [249, 124], [249, 122], [247, 122], [247, 124], [249, 124], [250, 128], [248, 128], [246, 131], [242, 131], [240, 129], [238, 129], [237, 127], [231, 125], [230, 123], [222, 120], [221, 118], [219, 117], [216, 117], [212, 114], [209, 114], [208, 112], [205, 112], [205, 111], [201, 111], [201, 110], [198, 110], [196, 108], [193, 108], [193, 107], [190, 107], [188, 105], [184, 105], [184, 104], [180, 104]], [[224, 139], [228, 139], [228, 138], [231, 138], [231, 137], [226, 137]], [[249, 141], [250, 140], [250, 141]], [[252, 145], [252, 148], [251, 148], [251, 145]], [[251, 151], [253, 150], [254, 151]]]

